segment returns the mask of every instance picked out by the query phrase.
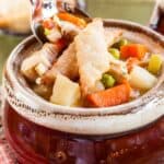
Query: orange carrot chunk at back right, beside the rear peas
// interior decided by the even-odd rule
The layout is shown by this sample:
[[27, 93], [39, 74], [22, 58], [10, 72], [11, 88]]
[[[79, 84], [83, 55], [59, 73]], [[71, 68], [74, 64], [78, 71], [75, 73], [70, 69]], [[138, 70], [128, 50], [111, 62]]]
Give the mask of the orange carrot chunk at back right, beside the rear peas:
[[121, 46], [120, 48], [120, 54], [124, 59], [127, 59], [129, 57], [142, 59], [147, 51], [147, 47], [140, 44], [129, 44], [126, 46]]

